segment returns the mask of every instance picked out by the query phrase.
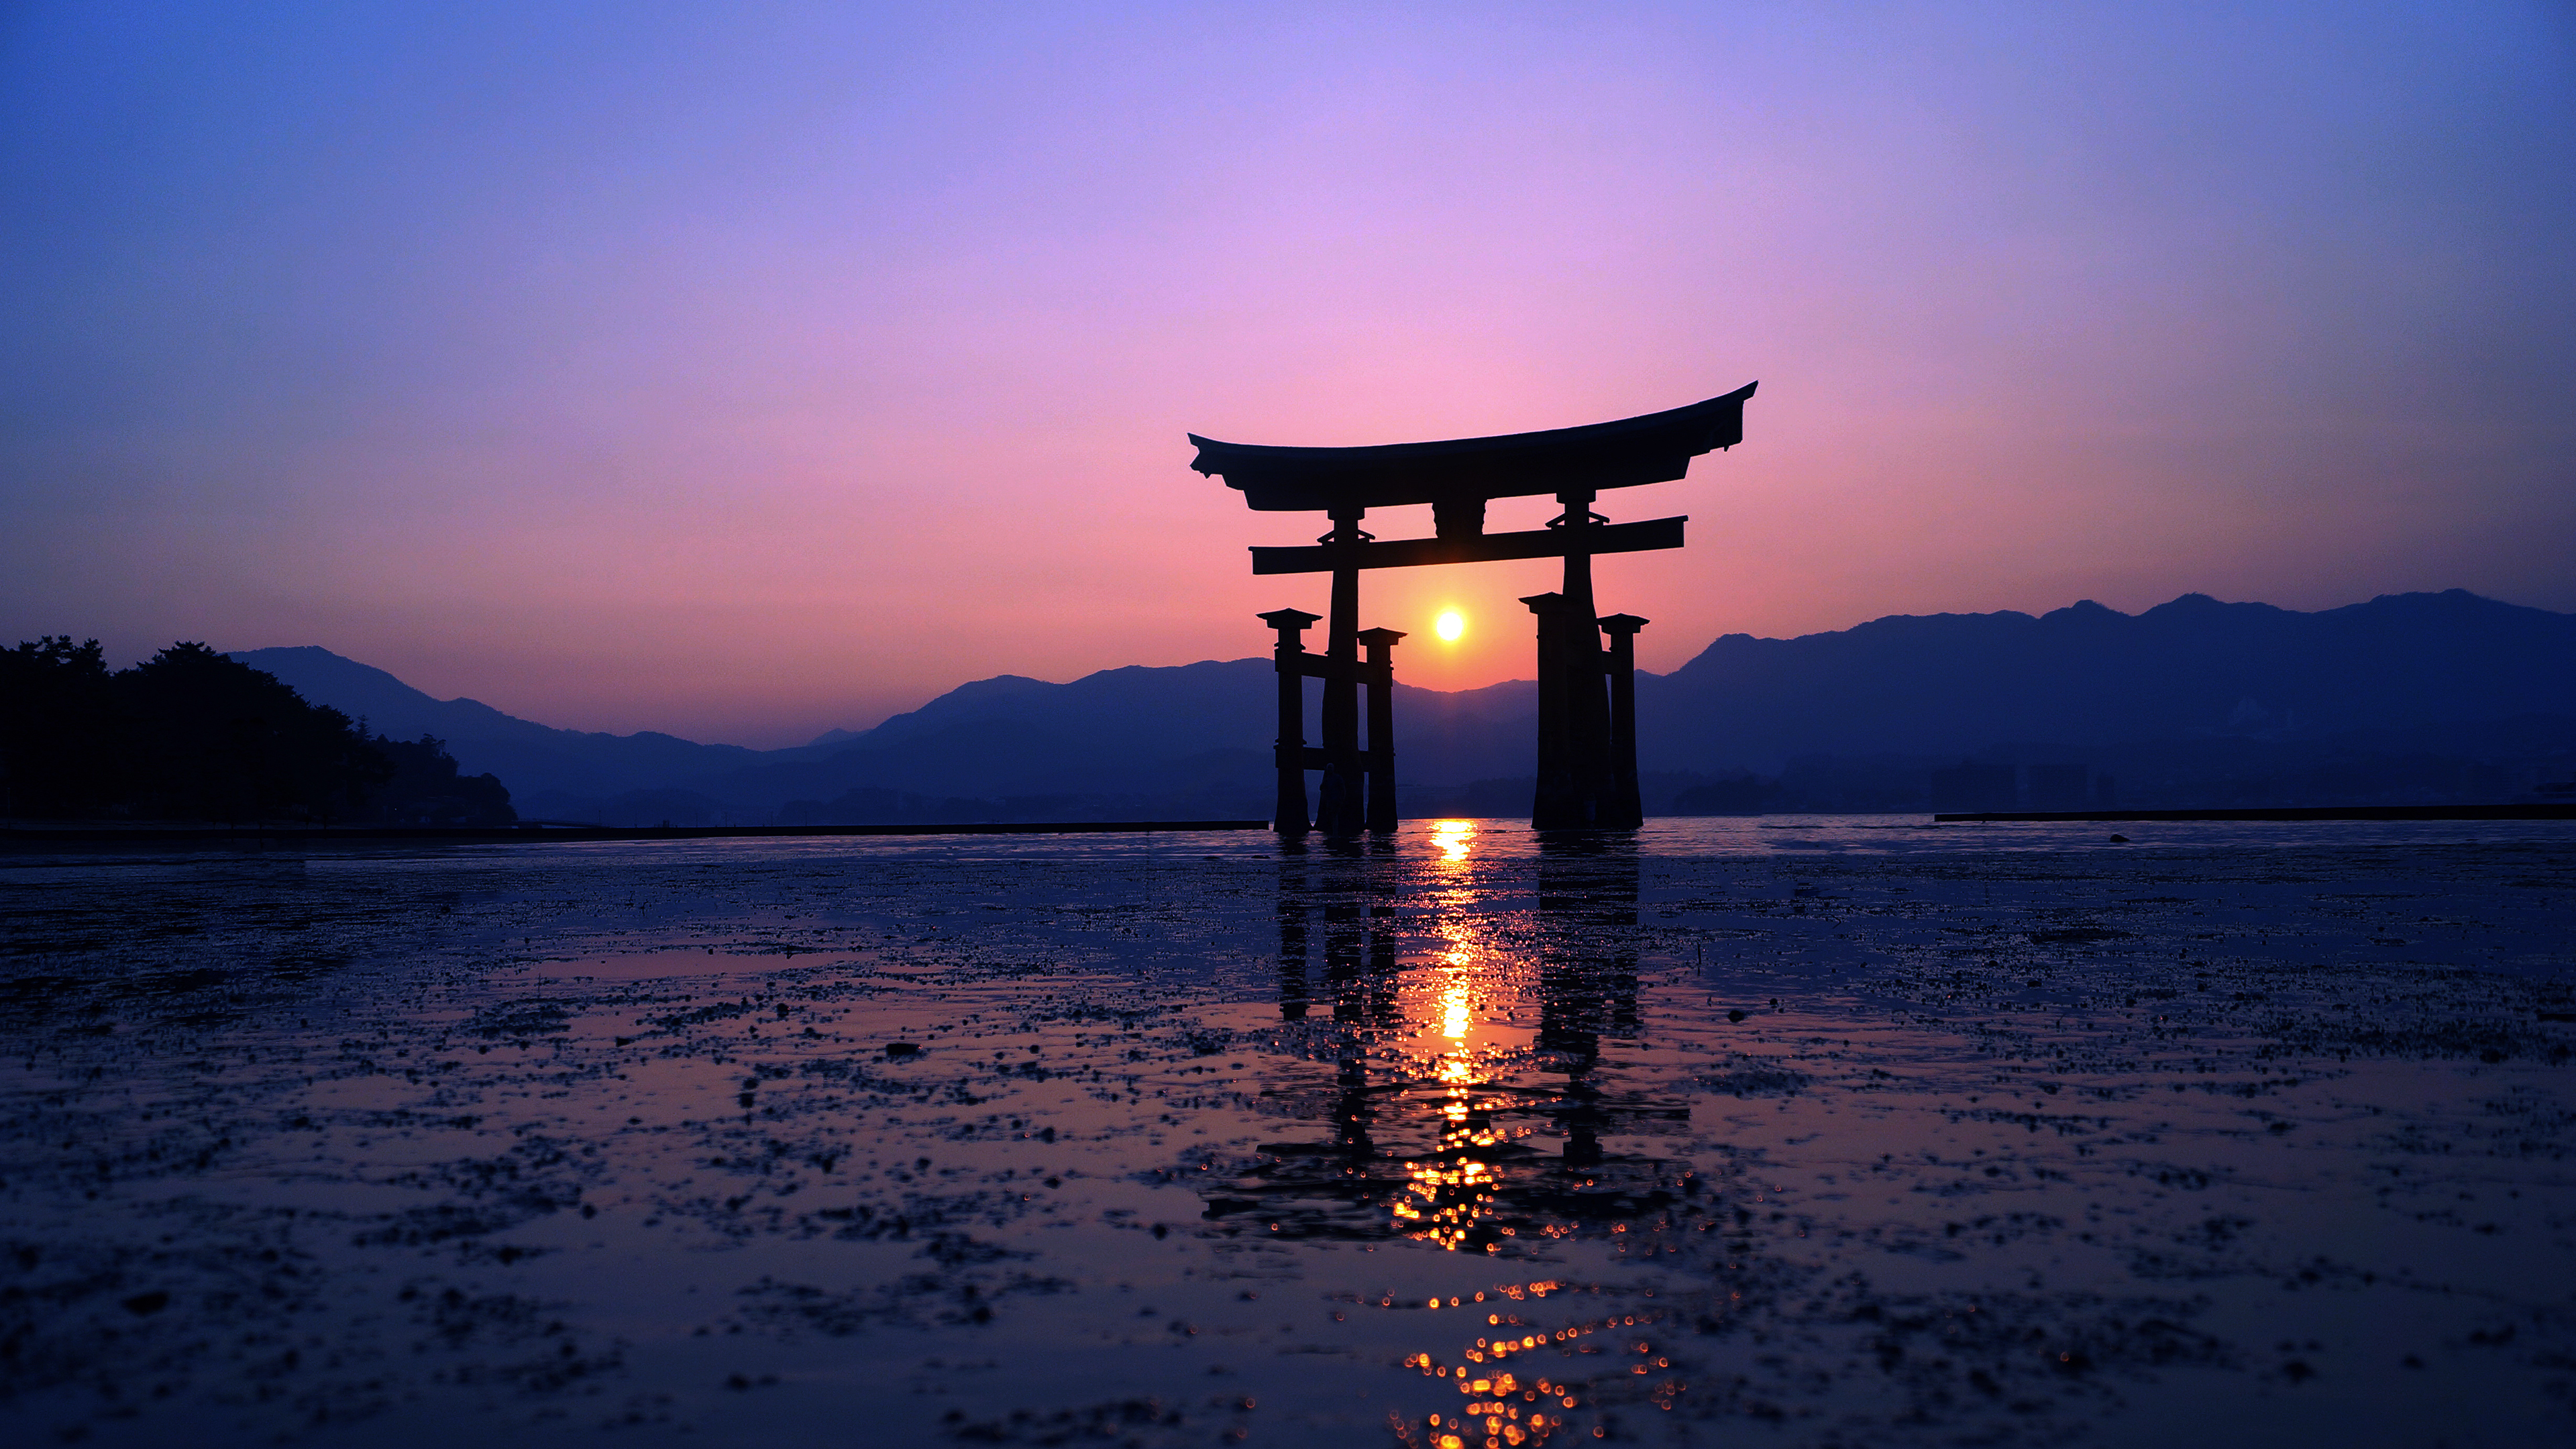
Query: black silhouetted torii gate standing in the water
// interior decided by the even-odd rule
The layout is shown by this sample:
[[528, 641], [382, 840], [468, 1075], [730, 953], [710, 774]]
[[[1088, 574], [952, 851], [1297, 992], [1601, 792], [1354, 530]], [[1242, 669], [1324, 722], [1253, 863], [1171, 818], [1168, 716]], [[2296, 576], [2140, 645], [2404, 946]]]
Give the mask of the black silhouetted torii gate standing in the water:
[[[1332, 621], [1324, 652], [1303, 645], [1314, 614], [1278, 608], [1280, 737], [1278, 830], [1306, 833], [1306, 771], [1324, 771], [1314, 825], [1327, 833], [1396, 828], [1396, 748], [1391, 735], [1396, 629], [1360, 629], [1360, 570], [1566, 559], [1561, 593], [1522, 598], [1538, 616], [1538, 830], [1633, 828], [1636, 789], [1636, 632], [1633, 614], [1595, 616], [1592, 554], [1680, 549], [1687, 518], [1610, 523], [1592, 513], [1607, 487], [1672, 482], [1690, 459], [1744, 441], [1744, 400], [1754, 384], [1669, 413], [1507, 433], [1445, 443], [1368, 449], [1267, 449], [1190, 433], [1190, 467], [1224, 477], [1257, 513], [1321, 511], [1332, 531], [1314, 547], [1252, 549], [1252, 572], [1329, 572]], [[1494, 498], [1553, 492], [1566, 508], [1546, 529], [1486, 534]], [[1432, 505], [1432, 539], [1381, 541], [1360, 531], [1370, 508]], [[1602, 632], [1610, 632], [1607, 657]], [[1360, 660], [1368, 645], [1368, 660]], [[1306, 678], [1324, 681], [1324, 743], [1306, 745]], [[1602, 683], [1610, 683], [1607, 699]], [[1370, 691], [1368, 748], [1360, 748], [1360, 686]], [[1365, 804], [1360, 781], [1368, 781]]]

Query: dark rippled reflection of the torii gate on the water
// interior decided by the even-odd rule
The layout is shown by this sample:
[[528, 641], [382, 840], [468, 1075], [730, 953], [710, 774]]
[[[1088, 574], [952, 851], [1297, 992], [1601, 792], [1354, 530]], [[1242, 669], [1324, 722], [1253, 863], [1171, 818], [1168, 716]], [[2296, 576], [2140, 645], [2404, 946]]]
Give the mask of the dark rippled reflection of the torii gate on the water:
[[[1492, 1080], [1494, 1062], [1448, 1052], [1430, 1070], [1370, 1083], [1370, 1042], [1404, 1029], [1396, 931], [1388, 905], [1360, 905], [1360, 882], [1334, 874], [1363, 861], [1283, 866], [1280, 1016], [1309, 1021], [1332, 1011], [1337, 1073], [1324, 1142], [1270, 1142], [1262, 1163], [1200, 1189], [1208, 1220], [1278, 1238], [1419, 1238], [1445, 1248], [1492, 1250], [1502, 1238], [1558, 1238], [1607, 1222], [1674, 1214], [1698, 1181], [1680, 1163], [1607, 1152], [1602, 1137], [1669, 1134], [1687, 1122], [1680, 1104], [1643, 1101], [1600, 1080], [1600, 1039], [1633, 1036], [1636, 1021], [1636, 853], [1548, 843], [1540, 853], [1538, 908], [1548, 926], [1535, 959], [1538, 1044], [1525, 1070], [1561, 1085]], [[1309, 975], [1311, 926], [1321, 895], [1324, 977]], [[1425, 920], [1412, 918], [1412, 933]], [[1468, 918], [1432, 920], [1466, 928]], [[1417, 977], [1419, 980], [1419, 977]], [[1466, 1013], [1461, 998], [1450, 1006]], [[1463, 1021], [1453, 1024], [1463, 1029]], [[1517, 1137], [1561, 1134], [1561, 1155]]]

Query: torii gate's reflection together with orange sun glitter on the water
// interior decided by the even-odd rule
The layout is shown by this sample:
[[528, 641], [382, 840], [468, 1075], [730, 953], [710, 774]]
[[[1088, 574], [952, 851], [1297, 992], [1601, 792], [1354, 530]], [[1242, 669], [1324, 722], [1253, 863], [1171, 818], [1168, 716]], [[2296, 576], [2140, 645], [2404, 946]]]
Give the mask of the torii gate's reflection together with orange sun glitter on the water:
[[[1656, 1152], [1656, 1137], [1687, 1132], [1690, 1106], [1620, 1073], [1620, 1047], [1638, 1036], [1633, 859], [1569, 851], [1515, 879], [1476, 851], [1471, 820], [1435, 822], [1427, 843], [1394, 887], [1329, 856], [1283, 871], [1280, 1018], [1321, 1070], [1293, 1075], [1275, 1101], [1301, 1101], [1296, 1116], [1314, 1127], [1203, 1178], [1213, 1232], [1414, 1240], [1492, 1261], [1584, 1238], [1620, 1261], [1680, 1250], [1685, 1232], [1710, 1227], [1713, 1199], [1687, 1160]], [[1543, 931], [1492, 905], [1530, 884]], [[1592, 1312], [1538, 1323], [1571, 1310], [1571, 1294]], [[1528, 1446], [1584, 1434], [1574, 1421], [1600, 1413], [1597, 1395], [1669, 1408], [1682, 1385], [1633, 1333], [1649, 1315], [1600, 1315], [1595, 1294], [1558, 1279], [1497, 1284], [1473, 1305], [1378, 1294], [1386, 1310], [1471, 1315], [1440, 1312], [1443, 1330], [1473, 1343], [1406, 1364], [1458, 1397], [1396, 1415], [1396, 1439]]]

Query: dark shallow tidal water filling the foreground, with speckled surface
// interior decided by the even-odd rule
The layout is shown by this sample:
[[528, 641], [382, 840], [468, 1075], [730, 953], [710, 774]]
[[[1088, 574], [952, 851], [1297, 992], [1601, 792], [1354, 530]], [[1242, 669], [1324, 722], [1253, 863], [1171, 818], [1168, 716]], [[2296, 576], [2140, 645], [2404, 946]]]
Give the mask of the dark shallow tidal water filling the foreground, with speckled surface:
[[2532, 822], [15, 853], [0, 1439], [2576, 1444], [2571, 1049]]

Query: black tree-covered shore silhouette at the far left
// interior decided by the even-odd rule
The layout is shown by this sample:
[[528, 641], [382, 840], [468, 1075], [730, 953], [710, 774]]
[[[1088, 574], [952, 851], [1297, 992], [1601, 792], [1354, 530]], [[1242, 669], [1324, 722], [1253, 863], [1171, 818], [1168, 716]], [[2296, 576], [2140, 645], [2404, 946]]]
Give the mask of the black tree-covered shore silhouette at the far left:
[[46, 634], [0, 650], [0, 817], [510, 825], [518, 812], [438, 737], [368, 737], [206, 645], [108, 673], [98, 639]]

